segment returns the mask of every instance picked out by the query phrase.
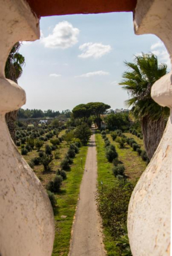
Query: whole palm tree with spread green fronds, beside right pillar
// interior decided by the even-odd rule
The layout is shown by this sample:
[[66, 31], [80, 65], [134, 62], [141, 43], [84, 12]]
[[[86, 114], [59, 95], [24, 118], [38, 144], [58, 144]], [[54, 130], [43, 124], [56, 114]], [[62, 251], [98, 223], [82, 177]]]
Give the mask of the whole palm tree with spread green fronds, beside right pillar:
[[145, 150], [151, 159], [163, 136], [165, 119], [169, 115], [168, 108], [163, 108], [151, 98], [151, 87], [167, 74], [167, 65], [158, 65], [157, 56], [153, 53], [142, 53], [142, 56], [135, 57], [134, 63], [125, 64], [129, 70], [123, 73], [124, 79], [119, 84], [130, 96], [125, 102], [126, 106], [132, 106], [134, 118], [141, 121]]

